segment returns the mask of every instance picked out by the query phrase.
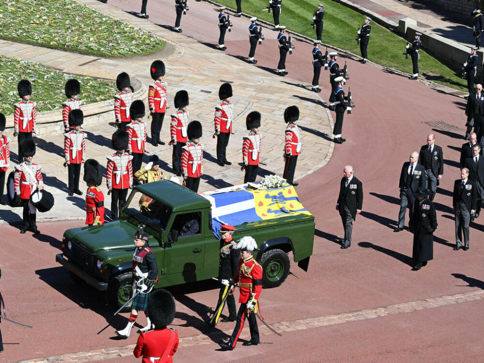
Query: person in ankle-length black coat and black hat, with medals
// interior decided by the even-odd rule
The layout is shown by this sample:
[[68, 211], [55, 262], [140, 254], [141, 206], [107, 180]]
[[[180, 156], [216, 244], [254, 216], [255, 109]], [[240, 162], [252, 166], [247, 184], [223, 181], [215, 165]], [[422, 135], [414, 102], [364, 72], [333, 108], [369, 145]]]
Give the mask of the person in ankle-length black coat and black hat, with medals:
[[437, 229], [437, 214], [434, 203], [427, 198], [429, 190], [421, 188], [417, 191], [417, 203], [413, 211], [413, 252], [412, 258], [416, 264], [413, 271], [427, 265], [434, 258], [434, 231]]

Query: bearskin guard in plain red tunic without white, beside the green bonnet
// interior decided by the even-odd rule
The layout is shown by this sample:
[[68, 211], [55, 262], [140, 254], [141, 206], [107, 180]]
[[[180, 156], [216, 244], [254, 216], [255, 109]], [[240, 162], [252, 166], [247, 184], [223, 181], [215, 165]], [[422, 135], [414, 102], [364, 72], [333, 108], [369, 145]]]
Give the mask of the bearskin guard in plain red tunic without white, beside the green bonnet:
[[104, 224], [104, 194], [99, 188], [102, 183], [102, 172], [97, 160], [86, 160], [83, 179], [87, 184], [86, 224], [88, 226]]

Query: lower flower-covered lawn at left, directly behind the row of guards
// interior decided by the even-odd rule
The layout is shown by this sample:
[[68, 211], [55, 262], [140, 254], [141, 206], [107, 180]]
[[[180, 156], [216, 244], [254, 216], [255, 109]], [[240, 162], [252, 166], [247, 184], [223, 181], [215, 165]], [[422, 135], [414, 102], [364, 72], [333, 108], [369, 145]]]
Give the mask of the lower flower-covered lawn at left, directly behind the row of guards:
[[13, 104], [20, 100], [17, 84], [22, 78], [32, 83], [31, 100], [37, 102], [37, 112], [62, 108], [67, 99], [64, 85], [70, 78], [81, 83], [79, 99], [84, 104], [110, 99], [117, 91], [114, 81], [67, 75], [39, 63], [0, 56], [0, 64], [0, 112], [6, 116], [13, 113]]

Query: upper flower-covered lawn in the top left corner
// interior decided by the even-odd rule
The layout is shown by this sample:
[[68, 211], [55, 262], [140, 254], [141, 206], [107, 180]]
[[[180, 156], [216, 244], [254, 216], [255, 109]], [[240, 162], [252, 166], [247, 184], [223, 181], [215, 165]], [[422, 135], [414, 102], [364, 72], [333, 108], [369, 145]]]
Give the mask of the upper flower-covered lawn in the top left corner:
[[165, 46], [159, 37], [73, 0], [0, 1], [0, 38], [108, 57]]

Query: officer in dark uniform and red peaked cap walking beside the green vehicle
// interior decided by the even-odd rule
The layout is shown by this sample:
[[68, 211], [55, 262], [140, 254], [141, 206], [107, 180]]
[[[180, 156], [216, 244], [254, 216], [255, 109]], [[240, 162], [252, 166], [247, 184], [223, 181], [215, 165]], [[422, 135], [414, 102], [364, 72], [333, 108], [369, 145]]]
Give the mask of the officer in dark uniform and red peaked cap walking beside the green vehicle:
[[[222, 282], [222, 287], [218, 294], [217, 309], [215, 310], [215, 319], [213, 326], [217, 325], [220, 314], [222, 313], [225, 302], [228, 308], [228, 317], [223, 318], [223, 323], [235, 321], [237, 319], [237, 311], [235, 309], [235, 299], [233, 297], [233, 278], [238, 273], [238, 261], [240, 259], [240, 251], [235, 249], [237, 244], [232, 239], [232, 233], [235, 230], [234, 226], [229, 224], [222, 224], [220, 226], [220, 265], [218, 268], [218, 278]], [[222, 300], [226, 297], [224, 304]]]

